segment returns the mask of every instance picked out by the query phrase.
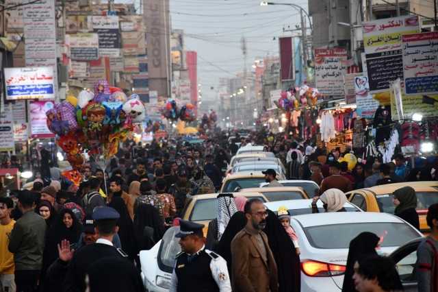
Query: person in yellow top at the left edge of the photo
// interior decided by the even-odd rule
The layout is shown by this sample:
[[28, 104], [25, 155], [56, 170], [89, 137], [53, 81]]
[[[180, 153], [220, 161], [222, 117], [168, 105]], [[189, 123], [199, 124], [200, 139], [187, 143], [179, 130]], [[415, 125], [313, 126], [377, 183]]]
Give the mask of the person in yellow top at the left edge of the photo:
[[0, 287], [15, 292], [14, 254], [8, 250], [9, 236], [15, 221], [11, 219], [14, 202], [10, 197], [0, 197]]

